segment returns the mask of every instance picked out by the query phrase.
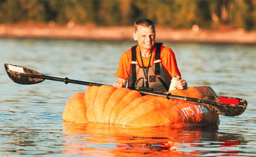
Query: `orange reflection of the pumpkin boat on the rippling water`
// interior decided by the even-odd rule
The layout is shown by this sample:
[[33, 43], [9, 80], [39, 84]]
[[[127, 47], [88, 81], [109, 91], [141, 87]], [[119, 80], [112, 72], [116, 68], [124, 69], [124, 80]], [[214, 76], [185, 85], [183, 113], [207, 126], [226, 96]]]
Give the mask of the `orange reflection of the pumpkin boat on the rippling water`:
[[[65, 137], [63, 153], [66, 154], [100, 157], [142, 155], [150, 157], [190, 157], [206, 153], [194, 149], [195, 147], [202, 148], [202, 141], [220, 141], [220, 143], [226, 144], [223, 139], [218, 139], [217, 125], [193, 128], [131, 127], [99, 123], [76, 124], [72, 122], [63, 122], [63, 125], [63, 135]], [[182, 148], [186, 148], [186, 151]], [[228, 153], [227, 150], [222, 153], [224, 152]], [[230, 152], [232, 155], [236, 153], [234, 151]]]

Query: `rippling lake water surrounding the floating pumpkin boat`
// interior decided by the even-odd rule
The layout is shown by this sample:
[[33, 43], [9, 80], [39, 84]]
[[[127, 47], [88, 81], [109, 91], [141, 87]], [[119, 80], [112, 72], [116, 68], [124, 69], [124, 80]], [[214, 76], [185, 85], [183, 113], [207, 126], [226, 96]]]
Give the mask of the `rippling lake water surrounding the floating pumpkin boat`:
[[0, 38], [0, 156], [256, 157], [256, 46], [170, 43], [188, 86], [246, 99], [238, 117], [200, 127], [138, 128], [62, 121], [69, 98], [86, 86], [45, 80], [20, 85], [4, 63], [54, 77], [112, 84], [123, 51], [135, 42]]

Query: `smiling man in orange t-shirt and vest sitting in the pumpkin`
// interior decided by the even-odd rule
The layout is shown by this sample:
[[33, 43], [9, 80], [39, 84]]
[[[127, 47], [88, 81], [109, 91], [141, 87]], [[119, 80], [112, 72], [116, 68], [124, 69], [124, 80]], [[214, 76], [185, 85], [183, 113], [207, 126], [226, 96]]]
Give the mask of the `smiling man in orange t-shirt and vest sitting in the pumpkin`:
[[[171, 79], [180, 77], [173, 51], [162, 43], [155, 43], [155, 26], [148, 19], [140, 19], [134, 23], [134, 40], [138, 45], [125, 51], [119, 62], [116, 73], [117, 82], [114, 87], [154, 91], [163, 93], [168, 91]], [[187, 82], [180, 79], [174, 88], [185, 89]]]

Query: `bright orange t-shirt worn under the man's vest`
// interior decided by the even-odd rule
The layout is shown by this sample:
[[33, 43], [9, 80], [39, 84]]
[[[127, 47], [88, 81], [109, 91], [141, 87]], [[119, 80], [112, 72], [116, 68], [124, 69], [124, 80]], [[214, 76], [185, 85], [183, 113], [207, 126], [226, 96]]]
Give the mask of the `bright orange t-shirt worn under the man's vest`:
[[[136, 52], [137, 52], [136, 55], [137, 55], [137, 61], [139, 63], [139, 66], [142, 67], [141, 55], [140, 53], [138, 53], [139, 46], [136, 47]], [[180, 71], [178, 69], [173, 50], [169, 47], [161, 46], [160, 52], [161, 52], [160, 60], [162, 61], [163, 68], [169, 72], [171, 77], [175, 75], [180, 77]], [[150, 60], [150, 57], [142, 57], [143, 64], [145, 67], [148, 66], [149, 60], [150, 60], [150, 66], [153, 65], [155, 54], [156, 54], [156, 46], [154, 46], [151, 60]], [[119, 67], [117, 69], [117, 73], [115, 74], [115, 76], [126, 80], [131, 71], [131, 67], [132, 67], [131, 62], [132, 62], [132, 49], [129, 49], [122, 54], [119, 61]]]

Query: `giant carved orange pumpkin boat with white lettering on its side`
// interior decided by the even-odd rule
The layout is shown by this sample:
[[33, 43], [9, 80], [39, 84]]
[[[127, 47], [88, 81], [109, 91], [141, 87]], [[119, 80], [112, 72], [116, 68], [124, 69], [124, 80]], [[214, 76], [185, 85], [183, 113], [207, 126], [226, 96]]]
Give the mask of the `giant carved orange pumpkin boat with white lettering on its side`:
[[[171, 91], [173, 95], [215, 100], [209, 86]], [[89, 86], [67, 102], [63, 120], [76, 123], [107, 123], [128, 126], [197, 126], [218, 124], [219, 115], [197, 102], [167, 100], [112, 86]]]

